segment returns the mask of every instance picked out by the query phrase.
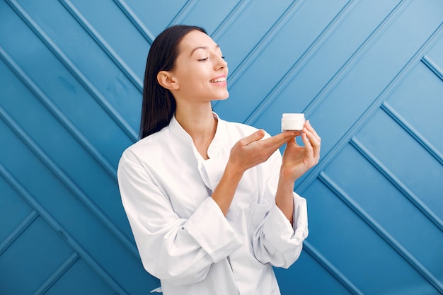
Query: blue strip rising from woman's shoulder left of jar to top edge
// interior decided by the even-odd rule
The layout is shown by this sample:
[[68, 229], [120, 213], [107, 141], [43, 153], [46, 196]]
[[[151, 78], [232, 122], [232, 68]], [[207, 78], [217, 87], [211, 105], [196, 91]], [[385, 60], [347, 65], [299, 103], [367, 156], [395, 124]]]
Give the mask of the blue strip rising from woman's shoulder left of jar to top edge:
[[[265, 110], [273, 103], [273, 101], [279, 96], [279, 94], [287, 87], [289, 83], [291, 83], [294, 76], [296, 76], [300, 69], [309, 61], [309, 59], [313, 56], [313, 54], [318, 50], [323, 42], [330, 36], [330, 33], [338, 26], [340, 21], [343, 21], [343, 18], [349, 13], [353, 7], [357, 4], [358, 1], [348, 1], [345, 6], [337, 13], [337, 15], [333, 18], [332, 21], [326, 26], [326, 28], [321, 32], [318, 37], [309, 45], [309, 47], [301, 54], [299, 59], [297, 59], [294, 64], [292, 64], [291, 68], [287, 73], [282, 76], [282, 79], [278, 81], [272, 90], [266, 94], [265, 98], [260, 102], [258, 108], [256, 108], [248, 117], [246, 118], [245, 123], [248, 125], [254, 125], [256, 120], [260, 117], [260, 115], [265, 112]], [[305, 111], [307, 117], [309, 117], [309, 112]]]

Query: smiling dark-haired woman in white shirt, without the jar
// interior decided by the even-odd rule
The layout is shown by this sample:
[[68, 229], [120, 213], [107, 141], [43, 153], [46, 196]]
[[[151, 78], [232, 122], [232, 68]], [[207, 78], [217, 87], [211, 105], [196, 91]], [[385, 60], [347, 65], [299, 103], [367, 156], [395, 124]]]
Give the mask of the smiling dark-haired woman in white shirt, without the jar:
[[293, 187], [318, 162], [320, 137], [309, 122], [270, 137], [221, 120], [211, 101], [228, 98], [227, 74], [202, 28], [168, 28], [149, 50], [141, 140], [118, 180], [143, 265], [166, 295], [280, 294], [272, 266], [292, 265], [308, 234]]

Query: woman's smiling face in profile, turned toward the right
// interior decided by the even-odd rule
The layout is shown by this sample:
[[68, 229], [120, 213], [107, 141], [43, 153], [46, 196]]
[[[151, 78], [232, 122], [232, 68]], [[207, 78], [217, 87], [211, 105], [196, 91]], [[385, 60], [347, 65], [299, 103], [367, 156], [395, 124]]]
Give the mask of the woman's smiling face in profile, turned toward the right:
[[172, 91], [178, 102], [207, 103], [229, 97], [228, 64], [211, 37], [193, 30], [183, 37], [178, 50], [176, 65], [170, 71], [178, 86]]

